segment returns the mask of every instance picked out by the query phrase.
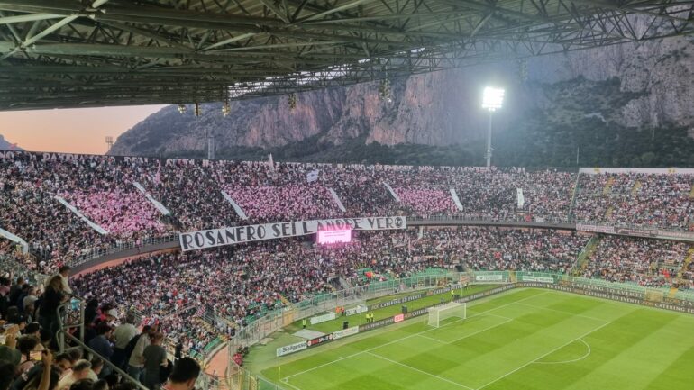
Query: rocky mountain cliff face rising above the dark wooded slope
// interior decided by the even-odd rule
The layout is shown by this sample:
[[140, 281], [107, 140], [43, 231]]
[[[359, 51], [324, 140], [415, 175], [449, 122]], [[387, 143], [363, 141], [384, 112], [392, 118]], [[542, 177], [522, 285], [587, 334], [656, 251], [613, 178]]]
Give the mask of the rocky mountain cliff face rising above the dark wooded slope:
[[[526, 67], [527, 76], [519, 76]], [[504, 86], [504, 107], [494, 114], [495, 140], [524, 128], [573, 126], [586, 119], [609, 128], [677, 127], [694, 135], [694, 38], [538, 57], [391, 79], [391, 98], [379, 83], [297, 95], [235, 101], [224, 118], [221, 104], [205, 104], [196, 118], [169, 106], [123, 133], [111, 153], [205, 155], [206, 134], [217, 150], [273, 150], [312, 140], [318, 145], [477, 145], [489, 113], [479, 106], [483, 86]], [[534, 123], [534, 129], [527, 129]], [[496, 142], [496, 141], [495, 141]], [[694, 151], [693, 151], [694, 152]], [[229, 157], [229, 156], [227, 156]], [[233, 157], [233, 156], [232, 156]]]

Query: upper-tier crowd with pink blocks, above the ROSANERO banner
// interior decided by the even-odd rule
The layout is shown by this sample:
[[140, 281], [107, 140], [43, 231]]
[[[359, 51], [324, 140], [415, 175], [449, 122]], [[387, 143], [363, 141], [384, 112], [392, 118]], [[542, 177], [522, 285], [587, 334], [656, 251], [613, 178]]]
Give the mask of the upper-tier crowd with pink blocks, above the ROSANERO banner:
[[[29, 265], [43, 271], [125, 241], [256, 222], [385, 214], [561, 222], [569, 218], [577, 182], [576, 174], [522, 168], [55, 156], [15, 152], [0, 160], [0, 227], [29, 242], [40, 258]], [[691, 175], [586, 174], [578, 182], [572, 214], [579, 221], [693, 229]], [[135, 183], [171, 214], [163, 216]], [[96, 232], [55, 196], [108, 233]], [[6, 241], [0, 239], [4, 250]]]

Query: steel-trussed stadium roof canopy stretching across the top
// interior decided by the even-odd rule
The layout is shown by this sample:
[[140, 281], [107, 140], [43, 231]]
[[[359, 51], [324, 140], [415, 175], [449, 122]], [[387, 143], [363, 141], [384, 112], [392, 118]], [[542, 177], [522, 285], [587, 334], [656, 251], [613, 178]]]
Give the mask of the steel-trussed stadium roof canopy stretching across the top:
[[224, 101], [694, 32], [692, 1], [0, 0], [0, 110]]

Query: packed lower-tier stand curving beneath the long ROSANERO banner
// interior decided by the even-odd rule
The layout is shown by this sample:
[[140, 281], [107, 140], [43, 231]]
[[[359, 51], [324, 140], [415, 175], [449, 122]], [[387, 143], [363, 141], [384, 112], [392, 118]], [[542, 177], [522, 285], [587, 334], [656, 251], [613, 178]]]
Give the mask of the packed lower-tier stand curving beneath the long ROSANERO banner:
[[[565, 272], [587, 238], [568, 232], [497, 228], [361, 232], [350, 243], [317, 245], [304, 239], [268, 240], [226, 249], [159, 253], [103, 268], [73, 281], [80, 294], [142, 313], [171, 326], [200, 352], [189, 310], [211, 306], [244, 326], [284, 301], [297, 303], [352, 285], [410, 277], [426, 268], [517, 269]], [[234, 326], [235, 327], [235, 326]], [[229, 335], [230, 327], [224, 331]], [[205, 335], [205, 340], [210, 335]], [[195, 340], [194, 340], [195, 339]], [[198, 338], [199, 339], [199, 338]]]

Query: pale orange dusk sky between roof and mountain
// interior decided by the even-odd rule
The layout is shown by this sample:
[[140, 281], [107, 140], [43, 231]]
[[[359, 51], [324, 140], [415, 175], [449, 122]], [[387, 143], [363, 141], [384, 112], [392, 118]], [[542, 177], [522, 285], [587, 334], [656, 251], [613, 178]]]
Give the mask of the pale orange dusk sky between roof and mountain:
[[0, 134], [24, 150], [104, 154], [105, 137], [123, 132], [164, 105], [0, 112]]

